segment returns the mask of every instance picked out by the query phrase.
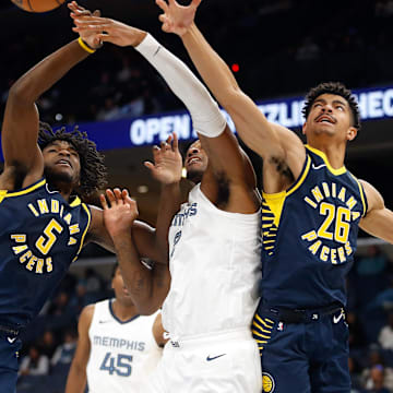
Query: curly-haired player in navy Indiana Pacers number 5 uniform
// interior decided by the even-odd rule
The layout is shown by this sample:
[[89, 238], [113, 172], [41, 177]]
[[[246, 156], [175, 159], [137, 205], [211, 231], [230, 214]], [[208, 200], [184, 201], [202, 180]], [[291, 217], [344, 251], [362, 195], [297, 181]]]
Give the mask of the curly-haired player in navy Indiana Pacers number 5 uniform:
[[[35, 105], [44, 92], [94, 52], [97, 41], [92, 35], [82, 38], [19, 79], [7, 102], [1, 133], [4, 170], [0, 175], [1, 392], [15, 391], [20, 331], [39, 312], [82, 246], [96, 241], [114, 249], [102, 210], [82, 202], [105, 183], [103, 157], [78, 130], [55, 133], [40, 128]], [[158, 248], [155, 231], [134, 224], [140, 254], [166, 262], [166, 247]]]

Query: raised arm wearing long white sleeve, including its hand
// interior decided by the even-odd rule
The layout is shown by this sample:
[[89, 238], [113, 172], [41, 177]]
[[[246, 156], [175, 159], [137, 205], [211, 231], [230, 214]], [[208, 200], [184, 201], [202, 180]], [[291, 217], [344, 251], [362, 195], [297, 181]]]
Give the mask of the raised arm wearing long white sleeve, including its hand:
[[103, 41], [133, 46], [141, 52], [190, 111], [193, 128], [209, 155], [211, 169], [215, 174], [225, 172], [230, 184], [255, 187], [251, 165], [227, 127], [225, 117], [205, 86], [182, 61], [146, 32], [110, 19], [85, 16], [82, 12], [74, 12], [72, 17], [76, 32], [95, 31]]

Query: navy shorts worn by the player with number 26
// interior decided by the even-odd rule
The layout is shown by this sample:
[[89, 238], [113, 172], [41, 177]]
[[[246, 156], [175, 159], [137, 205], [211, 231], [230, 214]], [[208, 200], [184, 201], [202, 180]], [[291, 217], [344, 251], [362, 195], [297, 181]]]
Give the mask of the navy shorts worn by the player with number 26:
[[344, 310], [307, 311], [296, 322], [283, 314], [261, 303], [253, 319], [263, 392], [348, 393], [348, 325]]

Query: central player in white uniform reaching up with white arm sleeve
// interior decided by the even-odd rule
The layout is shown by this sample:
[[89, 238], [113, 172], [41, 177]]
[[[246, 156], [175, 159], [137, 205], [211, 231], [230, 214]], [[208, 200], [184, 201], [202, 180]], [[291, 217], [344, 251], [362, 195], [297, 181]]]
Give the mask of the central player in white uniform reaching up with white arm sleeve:
[[[163, 324], [170, 343], [142, 392], [259, 393], [260, 360], [250, 331], [261, 273], [252, 166], [206, 88], [152, 36], [114, 20], [84, 17], [78, 10], [73, 17], [75, 31], [92, 28], [103, 40], [134, 46], [188, 107], [200, 138], [186, 157], [195, 186], [169, 231], [166, 299], [167, 291], [156, 296], [152, 290], [154, 270], [129, 261], [133, 245], [127, 198], [108, 192], [109, 206], [103, 201], [105, 223], [139, 309], [152, 312], [165, 299]], [[175, 172], [180, 177], [181, 170]]]

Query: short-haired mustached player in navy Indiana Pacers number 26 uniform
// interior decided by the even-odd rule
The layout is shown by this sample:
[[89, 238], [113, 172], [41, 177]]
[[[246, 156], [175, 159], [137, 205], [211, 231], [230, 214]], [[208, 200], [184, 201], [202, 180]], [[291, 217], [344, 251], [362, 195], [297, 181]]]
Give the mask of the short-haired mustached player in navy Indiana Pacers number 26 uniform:
[[164, 10], [202, 78], [249, 147], [263, 158], [263, 281], [253, 333], [265, 392], [349, 392], [345, 277], [358, 227], [393, 242], [393, 214], [381, 194], [344, 166], [360, 128], [357, 103], [341, 83], [312, 88], [305, 146], [266, 120], [193, 23], [201, 0]]

